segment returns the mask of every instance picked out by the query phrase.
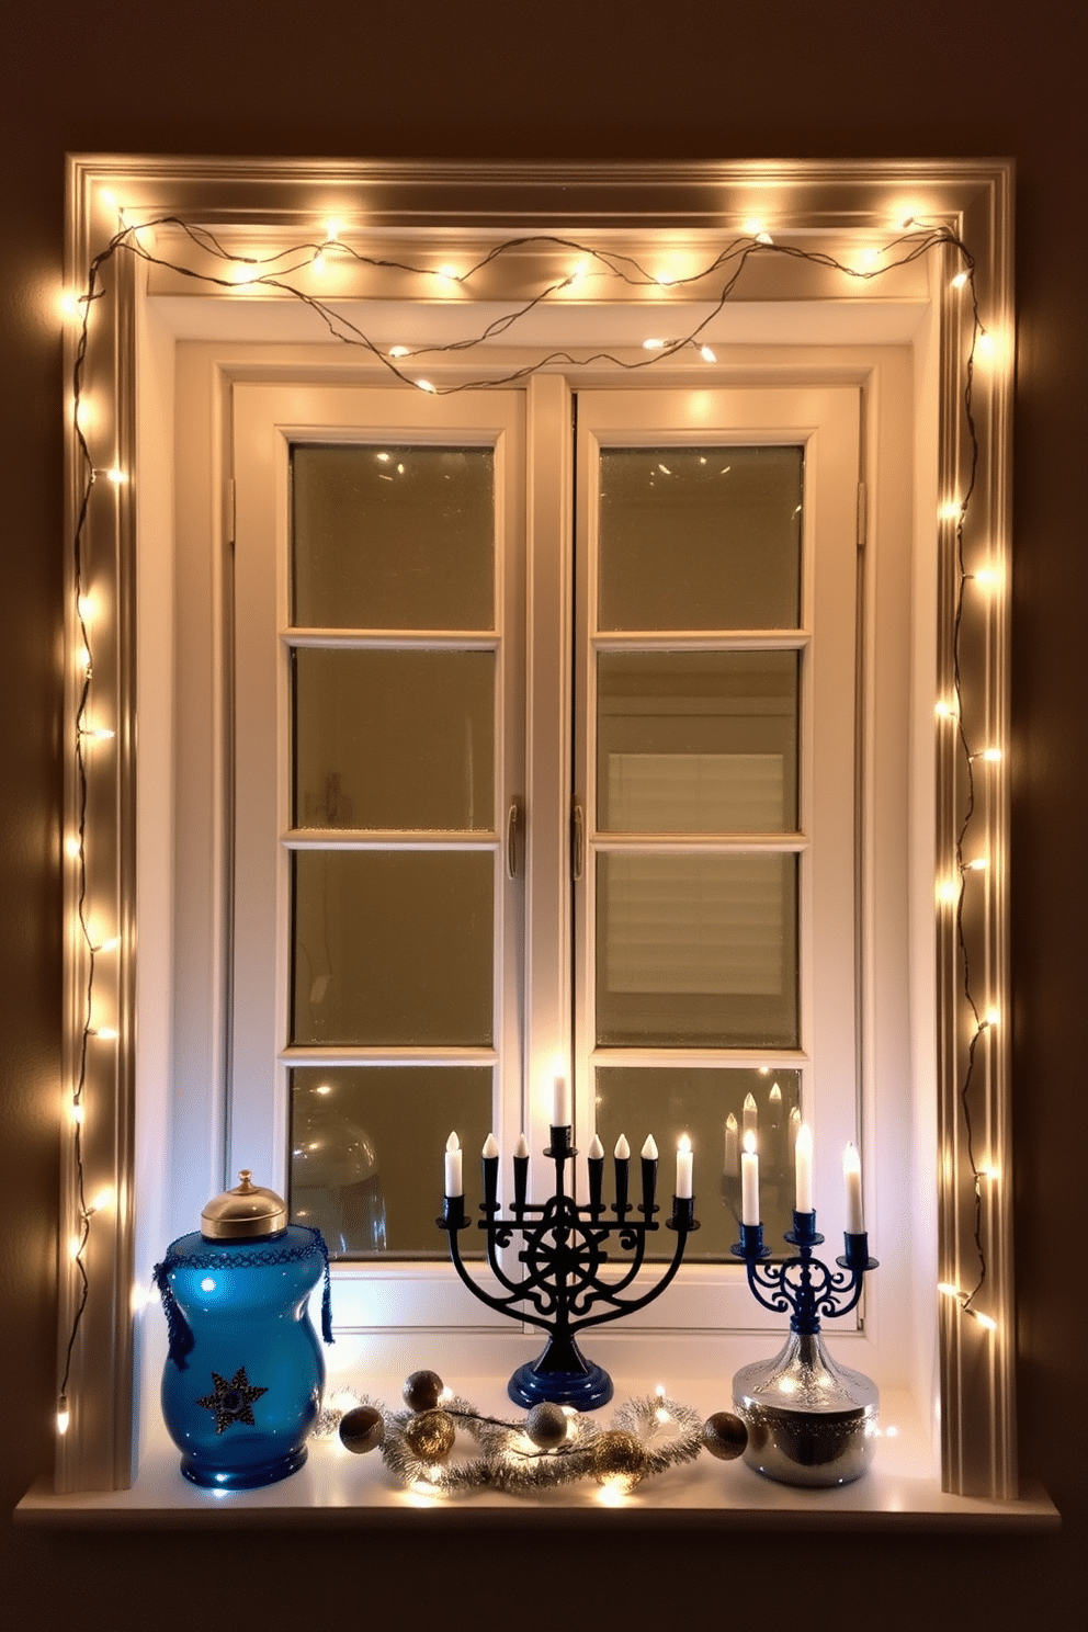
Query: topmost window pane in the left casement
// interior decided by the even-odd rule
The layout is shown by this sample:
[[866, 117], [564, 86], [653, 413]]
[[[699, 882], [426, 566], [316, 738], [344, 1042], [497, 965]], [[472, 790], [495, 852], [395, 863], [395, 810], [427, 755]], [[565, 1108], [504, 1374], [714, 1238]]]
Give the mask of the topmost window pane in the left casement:
[[489, 447], [292, 449], [292, 622], [493, 628]]

